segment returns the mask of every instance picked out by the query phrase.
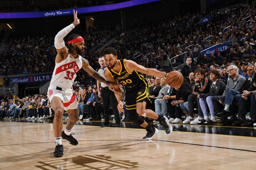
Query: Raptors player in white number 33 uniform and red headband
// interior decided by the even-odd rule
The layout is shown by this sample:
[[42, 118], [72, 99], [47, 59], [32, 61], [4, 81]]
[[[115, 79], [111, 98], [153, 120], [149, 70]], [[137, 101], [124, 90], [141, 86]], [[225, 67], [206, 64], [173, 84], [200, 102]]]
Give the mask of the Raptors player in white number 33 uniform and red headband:
[[[79, 23], [77, 11], [75, 12], [74, 10], [74, 22], [57, 33], [54, 39], [54, 45], [58, 54], [55, 59], [56, 65], [48, 88], [48, 96], [52, 109], [55, 111], [53, 119], [56, 144], [53, 156], [55, 157], [64, 155], [61, 137], [68, 140], [70, 144], [78, 144], [77, 140], [71, 134], [71, 129], [76, 121], [79, 120], [77, 100], [72, 89], [76, 73], [83, 68], [92, 77], [108, 85], [110, 89], [114, 86], [119, 87], [117, 84], [115, 85], [102, 78], [98, 72], [92, 69], [88, 61], [81, 57], [84, 51], [84, 39], [80, 35], [70, 35], [68, 37], [68, 48], [65, 46], [63, 38]], [[63, 125], [61, 118], [64, 109], [68, 112], [69, 119], [65, 130], [62, 131]]]

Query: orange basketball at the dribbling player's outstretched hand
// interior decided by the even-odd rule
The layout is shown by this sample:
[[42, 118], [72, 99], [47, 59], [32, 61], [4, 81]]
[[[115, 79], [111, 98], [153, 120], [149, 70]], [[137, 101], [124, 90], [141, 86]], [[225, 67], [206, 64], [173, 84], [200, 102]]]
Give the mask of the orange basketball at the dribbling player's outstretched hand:
[[180, 87], [183, 83], [183, 75], [179, 71], [171, 71], [167, 73], [166, 80], [171, 87]]

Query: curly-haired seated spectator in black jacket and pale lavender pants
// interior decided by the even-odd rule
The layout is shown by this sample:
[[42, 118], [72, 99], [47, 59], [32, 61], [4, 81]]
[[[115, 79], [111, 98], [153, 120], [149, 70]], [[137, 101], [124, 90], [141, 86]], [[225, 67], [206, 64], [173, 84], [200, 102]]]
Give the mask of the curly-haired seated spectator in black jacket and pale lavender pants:
[[[210, 83], [209, 93], [199, 94], [200, 95], [199, 103], [204, 114], [204, 119], [198, 122], [198, 124], [212, 124], [217, 122], [215, 119], [215, 112], [212, 105], [212, 96], [222, 95], [226, 88], [226, 85], [223, 82], [223, 80], [220, 79], [220, 74], [217, 70], [210, 70], [209, 77], [212, 80], [212, 82]], [[209, 107], [209, 110], [210, 110], [211, 119], [208, 118], [207, 106]]]

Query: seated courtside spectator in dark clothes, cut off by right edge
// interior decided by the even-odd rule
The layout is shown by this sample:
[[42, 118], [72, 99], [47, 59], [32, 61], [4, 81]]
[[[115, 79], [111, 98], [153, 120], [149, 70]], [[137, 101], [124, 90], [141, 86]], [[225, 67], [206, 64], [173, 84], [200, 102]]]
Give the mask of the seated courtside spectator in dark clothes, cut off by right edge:
[[[256, 64], [255, 64], [256, 65]], [[247, 90], [243, 91], [243, 94], [241, 95], [239, 99], [239, 105], [238, 105], [238, 119], [234, 123], [232, 123], [232, 126], [244, 126], [244, 127], [252, 127], [253, 123], [255, 123], [255, 116], [256, 116], [256, 74], [255, 74], [255, 65], [248, 65], [247, 66], [247, 74], [250, 75], [250, 87]], [[247, 113], [246, 107], [248, 106], [248, 103], [250, 103], [250, 118], [245, 119], [245, 115]]]

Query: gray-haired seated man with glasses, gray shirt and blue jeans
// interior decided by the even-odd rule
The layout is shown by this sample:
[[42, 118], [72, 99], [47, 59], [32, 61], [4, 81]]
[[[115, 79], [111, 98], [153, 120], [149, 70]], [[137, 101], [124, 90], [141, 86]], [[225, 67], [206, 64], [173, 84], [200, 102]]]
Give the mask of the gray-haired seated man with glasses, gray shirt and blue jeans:
[[[238, 74], [238, 67], [235, 65], [230, 65], [227, 68], [228, 76], [231, 77], [228, 79], [227, 87], [222, 96], [213, 96], [212, 104], [217, 112], [218, 117], [228, 117], [230, 116], [230, 106], [235, 98], [238, 101], [240, 91], [243, 88], [245, 78]], [[224, 110], [222, 110], [222, 105], [225, 105]], [[222, 110], [222, 111], [221, 111]]]

